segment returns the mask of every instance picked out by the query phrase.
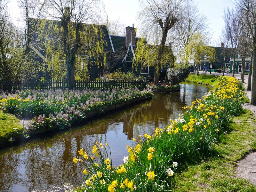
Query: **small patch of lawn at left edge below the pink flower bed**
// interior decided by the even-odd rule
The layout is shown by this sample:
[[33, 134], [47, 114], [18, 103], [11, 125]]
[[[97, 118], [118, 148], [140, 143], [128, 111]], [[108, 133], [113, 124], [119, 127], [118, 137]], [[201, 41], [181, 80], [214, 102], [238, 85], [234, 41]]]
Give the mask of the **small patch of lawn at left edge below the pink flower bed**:
[[0, 147], [4, 146], [11, 137], [21, 134], [22, 131], [23, 127], [17, 117], [0, 110]]

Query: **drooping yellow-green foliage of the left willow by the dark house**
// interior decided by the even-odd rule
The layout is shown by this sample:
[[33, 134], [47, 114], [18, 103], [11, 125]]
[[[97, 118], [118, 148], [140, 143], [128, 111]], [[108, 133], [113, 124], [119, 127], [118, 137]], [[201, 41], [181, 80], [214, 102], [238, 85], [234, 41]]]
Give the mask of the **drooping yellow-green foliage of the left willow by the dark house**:
[[[67, 70], [72, 67], [75, 70], [76, 80], [88, 80], [87, 66], [93, 64], [98, 65], [98, 67], [104, 66], [106, 62], [104, 60], [106, 58], [104, 45], [107, 43], [104, 40], [102, 26], [81, 24], [80, 28], [77, 29], [74, 23], [69, 22], [68, 44], [65, 46], [64, 31], [59, 21], [39, 20], [37, 25], [38, 49], [45, 49], [45, 56], [52, 54], [50, 56], [52, 60], [44, 60], [44, 64], [48, 64], [47, 69], [53, 80], [63, 79], [63, 76], [67, 76]], [[76, 50], [77, 34], [79, 34], [80, 46]], [[75, 57], [74, 63], [72, 63], [73, 56]]]

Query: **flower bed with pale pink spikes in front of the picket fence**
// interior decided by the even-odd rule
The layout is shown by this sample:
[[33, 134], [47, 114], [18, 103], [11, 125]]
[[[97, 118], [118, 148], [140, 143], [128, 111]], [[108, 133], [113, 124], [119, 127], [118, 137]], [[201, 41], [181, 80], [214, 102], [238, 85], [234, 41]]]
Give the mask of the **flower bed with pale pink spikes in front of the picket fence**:
[[85, 118], [86, 112], [138, 97], [152, 97], [151, 90], [26, 90], [1, 92], [0, 108], [23, 117], [34, 117], [36, 129], [59, 126], [63, 129]]

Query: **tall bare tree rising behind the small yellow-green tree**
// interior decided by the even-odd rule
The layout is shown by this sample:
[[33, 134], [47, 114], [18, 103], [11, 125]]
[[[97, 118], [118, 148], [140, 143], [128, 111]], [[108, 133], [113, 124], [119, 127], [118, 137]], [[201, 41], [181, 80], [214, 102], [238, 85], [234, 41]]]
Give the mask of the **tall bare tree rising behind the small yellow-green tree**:
[[193, 60], [193, 52], [189, 49], [189, 43], [192, 37], [196, 33], [205, 36], [209, 34], [206, 22], [206, 17], [198, 11], [197, 6], [193, 2], [189, 2], [189, 4], [184, 6], [181, 12], [181, 20], [177, 22], [174, 29], [177, 33], [173, 39], [180, 51], [181, 60], [183, 60], [186, 65], [188, 65], [190, 60]]

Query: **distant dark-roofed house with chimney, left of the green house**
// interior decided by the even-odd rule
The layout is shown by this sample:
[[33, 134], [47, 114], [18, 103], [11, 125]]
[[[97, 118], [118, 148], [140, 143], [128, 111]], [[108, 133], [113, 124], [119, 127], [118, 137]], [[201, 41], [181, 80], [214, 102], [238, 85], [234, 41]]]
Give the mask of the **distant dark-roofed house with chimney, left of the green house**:
[[206, 66], [208, 67], [208, 71], [210, 68], [210, 65], [212, 65], [212, 69], [218, 69], [223, 68], [224, 66], [224, 51], [226, 50], [226, 60], [225, 60], [225, 68], [228, 68], [230, 65], [230, 55], [231, 55], [231, 48], [224, 47], [224, 43], [221, 43], [220, 47], [212, 47], [215, 49], [215, 61], [212, 63], [210, 62], [210, 58], [207, 57], [207, 55], [202, 55], [202, 58], [200, 59], [200, 65], [199, 70], [205, 70]]

